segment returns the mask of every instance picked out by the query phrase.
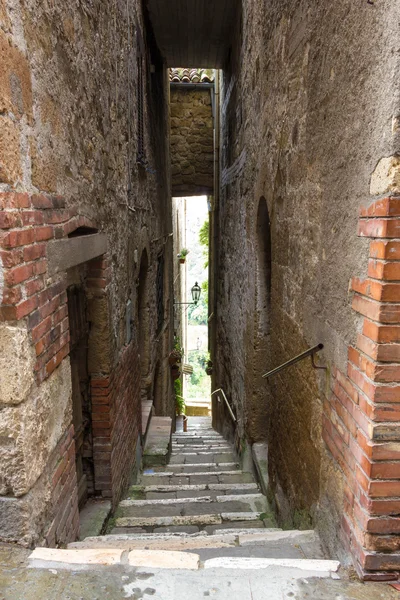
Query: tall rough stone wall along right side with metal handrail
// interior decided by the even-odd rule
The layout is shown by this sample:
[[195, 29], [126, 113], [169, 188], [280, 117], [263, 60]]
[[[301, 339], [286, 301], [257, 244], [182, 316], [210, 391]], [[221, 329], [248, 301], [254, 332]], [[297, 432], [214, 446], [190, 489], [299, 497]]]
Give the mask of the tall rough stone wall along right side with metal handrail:
[[[398, 191], [395, 158], [381, 163], [399, 152], [398, 11], [389, 1], [243, 3], [221, 97], [214, 386], [234, 404], [239, 437], [268, 441], [281, 521], [316, 525], [331, 554], [351, 549], [364, 575], [398, 568], [398, 555], [369, 555], [373, 544], [395, 548], [398, 526], [389, 500], [395, 494], [398, 502], [389, 481], [398, 472], [374, 462], [393, 455], [372, 432], [378, 427], [388, 443], [393, 427], [383, 434], [377, 422], [398, 425], [394, 396], [383, 391], [387, 411], [379, 411], [374, 390], [397, 388], [397, 367], [380, 361], [398, 357], [377, 354], [383, 349], [375, 338], [384, 341], [380, 323], [397, 323], [379, 302], [400, 296], [394, 288], [380, 295], [379, 281], [356, 281], [356, 312], [350, 283], [366, 272], [365, 235], [395, 235], [396, 225], [392, 233], [384, 226], [396, 212], [385, 213], [384, 224], [362, 225], [364, 237], [357, 227], [360, 207]], [[389, 174], [389, 187], [375, 185]], [[379, 257], [395, 259], [390, 251], [381, 248]], [[378, 267], [370, 263], [369, 277], [388, 278], [390, 266]], [[371, 294], [377, 296], [361, 298]], [[371, 324], [363, 325], [359, 313], [366, 311]], [[362, 327], [368, 333], [358, 338], [348, 366], [348, 348]], [[394, 330], [387, 335], [395, 341]], [[261, 379], [318, 343], [325, 346], [317, 361], [326, 371], [308, 359], [269, 383]], [[371, 353], [378, 365], [370, 364]], [[375, 384], [381, 369], [385, 383]], [[223, 427], [222, 415], [217, 424]], [[347, 466], [343, 456], [351, 457]], [[372, 501], [375, 479], [379, 507]], [[377, 527], [385, 542], [368, 537]]]

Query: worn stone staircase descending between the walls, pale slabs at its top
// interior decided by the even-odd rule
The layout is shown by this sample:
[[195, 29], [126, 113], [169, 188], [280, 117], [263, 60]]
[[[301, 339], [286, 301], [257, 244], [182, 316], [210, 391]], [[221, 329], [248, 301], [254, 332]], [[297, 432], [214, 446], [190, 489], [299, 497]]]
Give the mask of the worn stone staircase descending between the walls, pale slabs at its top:
[[[164, 433], [165, 429], [164, 424]], [[211, 576], [215, 570], [222, 587], [223, 573], [232, 577], [237, 571], [254, 572], [258, 582], [262, 572], [271, 585], [280, 581], [286, 587], [299, 577], [339, 577], [339, 563], [324, 559], [314, 531], [276, 527], [253, 475], [241, 470], [231, 446], [212, 430], [210, 419], [193, 419], [187, 433], [175, 433], [170, 451], [168, 464], [150, 460], [153, 466], [145, 467], [139, 484], [129, 489], [110, 534], [69, 544], [67, 550], [37, 548], [31, 566], [76, 569], [119, 564], [145, 569], [155, 577], [155, 590], [167, 585], [167, 571], [169, 577], [178, 577], [188, 570], [210, 570]], [[208, 578], [199, 577], [207, 592]], [[181, 597], [176, 590], [172, 595], [166, 589], [157, 593], [153, 598]]]

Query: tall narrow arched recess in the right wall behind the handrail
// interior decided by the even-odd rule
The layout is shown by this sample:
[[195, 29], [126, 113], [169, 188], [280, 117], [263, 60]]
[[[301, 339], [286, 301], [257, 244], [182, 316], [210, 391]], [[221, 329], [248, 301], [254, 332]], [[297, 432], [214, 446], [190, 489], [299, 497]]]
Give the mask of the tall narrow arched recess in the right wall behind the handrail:
[[271, 322], [271, 223], [267, 201], [261, 196], [255, 228], [254, 323], [252, 389], [247, 403], [247, 431], [251, 441], [267, 437], [269, 386], [262, 375], [269, 365]]

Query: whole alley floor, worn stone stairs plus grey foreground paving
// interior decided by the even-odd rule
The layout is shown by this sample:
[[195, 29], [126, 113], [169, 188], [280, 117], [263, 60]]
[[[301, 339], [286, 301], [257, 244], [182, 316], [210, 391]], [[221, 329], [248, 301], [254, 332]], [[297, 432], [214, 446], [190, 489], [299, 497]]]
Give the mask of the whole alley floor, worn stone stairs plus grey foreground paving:
[[[158, 436], [159, 449], [163, 439]], [[160, 456], [154, 441], [152, 456]], [[252, 473], [239, 468], [207, 417], [173, 435], [167, 465], [143, 471], [120, 502], [110, 534], [67, 550], [37, 548], [22, 576], [26, 557], [8, 552], [0, 563], [4, 600], [55, 600], [60, 593], [81, 600], [100, 594], [203, 600], [232, 593], [244, 600], [397, 598], [395, 590], [365, 589], [339, 576], [340, 564], [325, 560], [314, 531], [276, 527]]]

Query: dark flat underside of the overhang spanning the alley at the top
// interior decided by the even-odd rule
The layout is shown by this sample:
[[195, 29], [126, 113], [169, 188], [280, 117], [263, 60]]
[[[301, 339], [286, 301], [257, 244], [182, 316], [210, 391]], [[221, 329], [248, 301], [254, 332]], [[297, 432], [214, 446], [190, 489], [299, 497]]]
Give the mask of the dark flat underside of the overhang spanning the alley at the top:
[[240, 0], [146, 0], [168, 67], [224, 66]]

